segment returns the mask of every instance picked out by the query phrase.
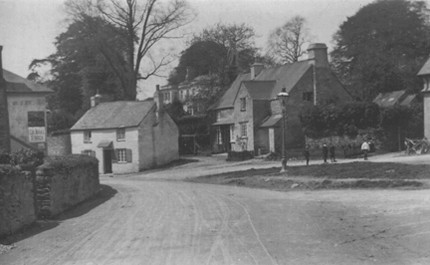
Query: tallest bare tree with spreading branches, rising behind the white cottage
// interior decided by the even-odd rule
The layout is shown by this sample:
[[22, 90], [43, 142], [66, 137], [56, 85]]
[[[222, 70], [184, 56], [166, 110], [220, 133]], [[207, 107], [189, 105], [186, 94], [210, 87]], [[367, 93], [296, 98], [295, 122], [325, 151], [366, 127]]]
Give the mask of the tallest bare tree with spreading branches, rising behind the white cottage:
[[[75, 19], [97, 15], [120, 29], [111, 34], [125, 32], [125, 36], [118, 35], [126, 39], [124, 50], [114, 50], [103, 38], [98, 46], [121, 79], [125, 98], [129, 100], [136, 98], [138, 80], [159, 76], [160, 69], [172, 60], [171, 54], [156, 58], [154, 47], [163, 40], [180, 38], [173, 32], [193, 18], [186, 0], [69, 0], [67, 6]], [[149, 70], [142, 71], [143, 61], [151, 65]]]

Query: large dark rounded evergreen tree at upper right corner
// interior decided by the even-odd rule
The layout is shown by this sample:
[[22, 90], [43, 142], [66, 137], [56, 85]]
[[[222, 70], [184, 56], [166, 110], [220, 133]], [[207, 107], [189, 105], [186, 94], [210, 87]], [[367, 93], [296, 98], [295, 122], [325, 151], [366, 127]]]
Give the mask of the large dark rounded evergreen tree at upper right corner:
[[379, 93], [419, 91], [416, 74], [430, 52], [424, 1], [379, 0], [349, 17], [334, 36], [332, 64], [358, 99]]

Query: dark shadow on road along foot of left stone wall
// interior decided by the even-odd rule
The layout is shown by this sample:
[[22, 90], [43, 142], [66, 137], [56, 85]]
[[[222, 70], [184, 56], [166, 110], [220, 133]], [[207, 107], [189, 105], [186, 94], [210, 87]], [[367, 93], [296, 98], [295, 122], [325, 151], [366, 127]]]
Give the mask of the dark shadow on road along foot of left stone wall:
[[32, 237], [36, 234], [55, 228], [64, 220], [88, 213], [92, 209], [114, 197], [116, 193], [117, 190], [113, 189], [108, 185], [102, 184], [100, 185], [100, 191], [94, 197], [75, 205], [71, 209], [53, 217], [52, 219], [36, 220], [36, 222], [27, 227], [24, 227], [17, 233], [0, 239], [0, 244], [14, 244], [26, 238]]

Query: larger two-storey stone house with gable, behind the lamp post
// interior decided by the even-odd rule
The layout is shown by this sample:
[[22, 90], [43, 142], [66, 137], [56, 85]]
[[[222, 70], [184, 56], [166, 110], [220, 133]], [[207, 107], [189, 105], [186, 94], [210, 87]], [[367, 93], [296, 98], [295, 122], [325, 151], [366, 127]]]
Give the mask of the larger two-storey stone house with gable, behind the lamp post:
[[303, 106], [352, 100], [330, 70], [325, 44], [311, 44], [308, 57], [267, 69], [262, 64], [254, 64], [250, 73], [240, 74], [211, 107], [215, 113], [213, 152], [280, 152], [282, 106], [277, 95], [283, 89], [289, 93], [286, 103], [287, 147], [304, 145], [300, 122]]

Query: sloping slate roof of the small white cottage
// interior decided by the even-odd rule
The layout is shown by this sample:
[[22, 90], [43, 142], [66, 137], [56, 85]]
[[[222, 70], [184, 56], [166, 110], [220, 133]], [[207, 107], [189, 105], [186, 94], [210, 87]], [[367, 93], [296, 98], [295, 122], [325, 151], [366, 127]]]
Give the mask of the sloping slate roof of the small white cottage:
[[71, 128], [72, 131], [136, 127], [155, 106], [145, 101], [104, 102], [89, 109]]

